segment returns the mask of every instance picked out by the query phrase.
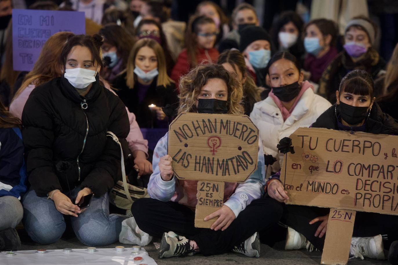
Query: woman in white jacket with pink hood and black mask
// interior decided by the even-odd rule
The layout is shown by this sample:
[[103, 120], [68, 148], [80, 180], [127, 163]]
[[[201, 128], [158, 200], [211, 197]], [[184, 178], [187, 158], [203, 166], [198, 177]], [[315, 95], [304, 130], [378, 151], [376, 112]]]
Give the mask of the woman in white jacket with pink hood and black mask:
[[267, 66], [272, 91], [269, 96], [254, 104], [250, 118], [260, 131], [264, 154], [277, 158], [270, 172], [278, 172], [283, 162], [283, 154], [276, 144], [283, 137], [289, 137], [300, 127], [308, 127], [330, 103], [316, 95], [295, 56], [289, 52], [278, 52], [272, 56]]

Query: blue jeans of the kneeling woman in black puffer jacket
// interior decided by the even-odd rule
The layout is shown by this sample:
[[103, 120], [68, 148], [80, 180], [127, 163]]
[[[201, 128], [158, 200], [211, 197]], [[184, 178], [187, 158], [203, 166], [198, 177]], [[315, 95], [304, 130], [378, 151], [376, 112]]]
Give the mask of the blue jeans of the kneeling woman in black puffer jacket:
[[[80, 189], [75, 188], [70, 198], [76, 198]], [[65, 231], [64, 215], [55, 207], [54, 201], [38, 197], [29, 190], [22, 198], [23, 226], [31, 239], [47, 245], [57, 242]], [[125, 215], [109, 215], [109, 195], [93, 197], [91, 204], [78, 217], [70, 216], [72, 228], [77, 238], [88, 246], [106, 246], [119, 240], [122, 221]]]

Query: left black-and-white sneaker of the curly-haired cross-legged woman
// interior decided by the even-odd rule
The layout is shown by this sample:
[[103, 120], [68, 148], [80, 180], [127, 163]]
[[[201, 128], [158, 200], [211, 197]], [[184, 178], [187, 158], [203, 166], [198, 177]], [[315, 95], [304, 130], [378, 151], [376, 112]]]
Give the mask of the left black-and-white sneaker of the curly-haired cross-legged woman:
[[163, 257], [192, 256], [197, 250], [193, 250], [189, 245], [189, 240], [185, 236], [170, 231], [164, 233], [158, 252], [159, 259]]

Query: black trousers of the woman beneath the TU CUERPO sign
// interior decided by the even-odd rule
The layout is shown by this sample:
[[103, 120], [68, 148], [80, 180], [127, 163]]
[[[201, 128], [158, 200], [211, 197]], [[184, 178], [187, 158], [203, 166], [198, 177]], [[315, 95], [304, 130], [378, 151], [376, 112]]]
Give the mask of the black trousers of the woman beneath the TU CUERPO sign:
[[[315, 248], [322, 250], [325, 236], [314, 236], [321, 222], [309, 224], [319, 216], [327, 215], [329, 208], [283, 204], [281, 222], [303, 234]], [[388, 240], [384, 240], [384, 248], [388, 250], [390, 244], [398, 240], [398, 216], [382, 215], [380, 213], [357, 212], [354, 222], [353, 236], [369, 237], [378, 234], [386, 234]], [[327, 233], [327, 232], [326, 232]]]

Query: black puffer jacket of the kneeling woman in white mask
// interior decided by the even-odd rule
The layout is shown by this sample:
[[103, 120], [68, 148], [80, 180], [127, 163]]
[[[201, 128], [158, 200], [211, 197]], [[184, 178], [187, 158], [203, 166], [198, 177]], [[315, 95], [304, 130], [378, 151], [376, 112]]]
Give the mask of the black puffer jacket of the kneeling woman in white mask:
[[[36, 87], [23, 109], [22, 124], [28, 179], [38, 196], [55, 189], [66, 193], [68, 184], [71, 190], [80, 185], [100, 196], [119, 179], [120, 147], [106, 132], [127, 145], [129, 119], [122, 101], [98, 77], [85, 97], [64, 77]], [[72, 168], [59, 172], [59, 161]]]

